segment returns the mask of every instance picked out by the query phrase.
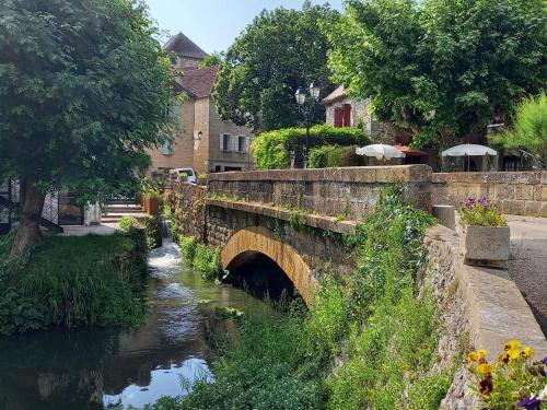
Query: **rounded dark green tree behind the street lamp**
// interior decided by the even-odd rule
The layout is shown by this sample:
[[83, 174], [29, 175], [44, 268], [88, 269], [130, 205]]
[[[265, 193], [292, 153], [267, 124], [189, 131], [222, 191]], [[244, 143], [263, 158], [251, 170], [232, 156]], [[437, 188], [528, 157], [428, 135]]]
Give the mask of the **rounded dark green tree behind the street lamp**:
[[[328, 42], [318, 22], [338, 14], [328, 5], [302, 10], [283, 8], [263, 11], [228, 49], [214, 86], [213, 98], [224, 120], [255, 130], [279, 129], [302, 124], [294, 101], [299, 86], [313, 80], [331, 91], [327, 68]], [[316, 107], [315, 121], [325, 108]]]

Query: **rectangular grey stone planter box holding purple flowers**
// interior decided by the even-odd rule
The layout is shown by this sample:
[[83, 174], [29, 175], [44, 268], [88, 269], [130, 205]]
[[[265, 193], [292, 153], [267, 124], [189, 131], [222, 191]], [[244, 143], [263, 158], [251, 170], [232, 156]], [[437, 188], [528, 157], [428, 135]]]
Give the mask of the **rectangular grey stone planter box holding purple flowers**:
[[507, 268], [509, 260], [509, 226], [464, 225], [464, 263]]

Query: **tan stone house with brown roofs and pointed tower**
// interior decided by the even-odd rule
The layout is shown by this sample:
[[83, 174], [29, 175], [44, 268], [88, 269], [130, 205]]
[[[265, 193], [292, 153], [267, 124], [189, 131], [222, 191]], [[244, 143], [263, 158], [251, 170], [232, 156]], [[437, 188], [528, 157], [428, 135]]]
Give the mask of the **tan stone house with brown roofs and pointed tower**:
[[175, 91], [185, 93], [187, 101], [170, 109], [168, 115], [178, 124], [172, 131], [174, 142], [149, 152], [152, 164], [148, 175], [156, 177], [182, 167], [193, 167], [198, 174], [253, 169], [252, 131], [223, 121], [217, 113], [212, 90], [220, 66], [199, 69], [207, 54], [182, 33], [164, 48], [177, 69]]

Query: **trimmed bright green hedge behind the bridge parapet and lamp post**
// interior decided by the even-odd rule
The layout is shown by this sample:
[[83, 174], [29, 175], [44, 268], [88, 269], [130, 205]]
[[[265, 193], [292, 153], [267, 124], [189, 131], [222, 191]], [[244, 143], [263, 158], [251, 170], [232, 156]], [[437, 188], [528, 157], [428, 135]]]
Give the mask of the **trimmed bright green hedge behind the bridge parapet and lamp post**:
[[[252, 143], [256, 166], [259, 169], [289, 168], [292, 152], [302, 151], [305, 137], [305, 128], [286, 128], [260, 133]], [[369, 141], [362, 129], [336, 128], [326, 124], [310, 129], [311, 148], [326, 144], [366, 145]]]

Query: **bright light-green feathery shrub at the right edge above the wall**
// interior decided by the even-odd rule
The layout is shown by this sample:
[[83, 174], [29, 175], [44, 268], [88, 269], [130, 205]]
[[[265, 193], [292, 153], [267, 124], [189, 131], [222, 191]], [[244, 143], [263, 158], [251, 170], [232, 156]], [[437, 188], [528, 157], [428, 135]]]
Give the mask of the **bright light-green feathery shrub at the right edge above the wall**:
[[507, 149], [524, 149], [547, 161], [547, 95], [524, 98], [516, 106], [514, 129], [496, 136]]

